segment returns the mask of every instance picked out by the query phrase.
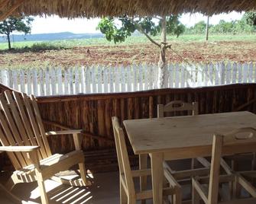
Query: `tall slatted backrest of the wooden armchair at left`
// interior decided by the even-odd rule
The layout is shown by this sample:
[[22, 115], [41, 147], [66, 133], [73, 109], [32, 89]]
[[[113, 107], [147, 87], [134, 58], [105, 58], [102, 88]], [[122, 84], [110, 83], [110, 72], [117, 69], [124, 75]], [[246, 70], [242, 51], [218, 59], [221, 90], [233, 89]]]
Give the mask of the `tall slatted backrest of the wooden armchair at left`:
[[[51, 155], [35, 97], [16, 91], [0, 94], [0, 142], [3, 146], [40, 146], [39, 158]], [[25, 153], [8, 153], [18, 170], [31, 164]]]

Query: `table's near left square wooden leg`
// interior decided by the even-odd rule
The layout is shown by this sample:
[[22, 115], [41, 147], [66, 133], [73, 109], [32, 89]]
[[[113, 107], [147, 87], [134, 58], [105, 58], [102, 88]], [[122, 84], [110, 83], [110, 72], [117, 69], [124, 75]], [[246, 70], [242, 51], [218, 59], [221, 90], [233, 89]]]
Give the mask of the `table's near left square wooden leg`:
[[163, 203], [163, 153], [152, 153], [151, 156], [151, 174], [152, 190], [154, 204]]

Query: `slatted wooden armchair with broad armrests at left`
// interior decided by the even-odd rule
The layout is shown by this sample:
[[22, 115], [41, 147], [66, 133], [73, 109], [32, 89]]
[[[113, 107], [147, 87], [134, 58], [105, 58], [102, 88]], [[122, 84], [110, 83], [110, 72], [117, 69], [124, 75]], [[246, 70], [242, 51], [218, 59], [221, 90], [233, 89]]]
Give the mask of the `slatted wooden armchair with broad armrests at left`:
[[[44, 180], [57, 180], [72, 186], [85, 186], [86, 168], [79, 138], [80, 129], [45, 132], [37, 101], [15, 91], [0, 94], [0, 151], [7, 151], [15, 172], [8, 181], [7, 190], [16, 183], [37, 181], [42, 203], [49, 203]], [[47, 141], [49, 135], [73, 134], [76, 150], [66, 155], [52, 155]], [[79, 164], [82, 179], [64, 180], [55, 174]]]

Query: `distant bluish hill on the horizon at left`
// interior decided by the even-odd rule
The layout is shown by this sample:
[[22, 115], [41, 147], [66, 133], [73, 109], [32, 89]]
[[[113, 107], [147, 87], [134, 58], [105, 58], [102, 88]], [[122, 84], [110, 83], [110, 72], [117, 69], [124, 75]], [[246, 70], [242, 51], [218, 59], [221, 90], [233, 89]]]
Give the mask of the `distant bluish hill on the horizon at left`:
[[[42, 33], [42, 34], [28, 34], [28, 35], [11, 35], [11, 41], [43, 41], [43, 40], [70, 40], [70, 39], [90, 39], [90, 38], [101, 38], [102, 33]], [[6, 43], [6, 37], [0, 37], [0, 43]]]

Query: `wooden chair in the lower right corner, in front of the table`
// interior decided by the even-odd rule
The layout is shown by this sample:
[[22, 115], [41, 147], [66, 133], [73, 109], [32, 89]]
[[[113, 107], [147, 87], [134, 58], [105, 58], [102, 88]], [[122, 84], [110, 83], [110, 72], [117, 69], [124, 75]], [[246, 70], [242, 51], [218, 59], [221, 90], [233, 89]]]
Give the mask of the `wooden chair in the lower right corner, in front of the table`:
[[[213, 135], [212, 142], [212, 161], [211, 161], [211, 171], [208, 178], [195, 177], [193, 178], [193, 204], [199, 203], [200, 199], [207, 204], [216, 204], [216, 203], [256, 203], [256, 189], [245, 180], [245, 177], [241, 174], [233, 173], [228, 175], [219, 175], [220, 166], [223, 162], [222, 160], [222, 147], [228, 146], [228, 148], [239, 148], [239, 144], [252, 144], [256, 143], [256, 130], [253, 128], [241, 128], [236, 129], [235, 131], [228, 133], [226, 135]], [[255, 145], [256, 148], [256, 145]], [[223, 167], [223, 165], [222, 165]], [[225, 167], [228, 167], [225, 164]], [[232, 171], [231, 169], [229, 171]], [[254, 198], [245, 198], [245, 199], [232, 199], [229, 201], [220, 201], [218, 202], [219, 194], [219, 183], [230, 182], [234, 184], [234, 191], [238, 194], [240, 190], [239, 186], [242, 186], [248, 193], [251, 194]], [[209, 183], [206, 184], [206, 183]], [[209, 186], [207, 191], [206, 184]]]

